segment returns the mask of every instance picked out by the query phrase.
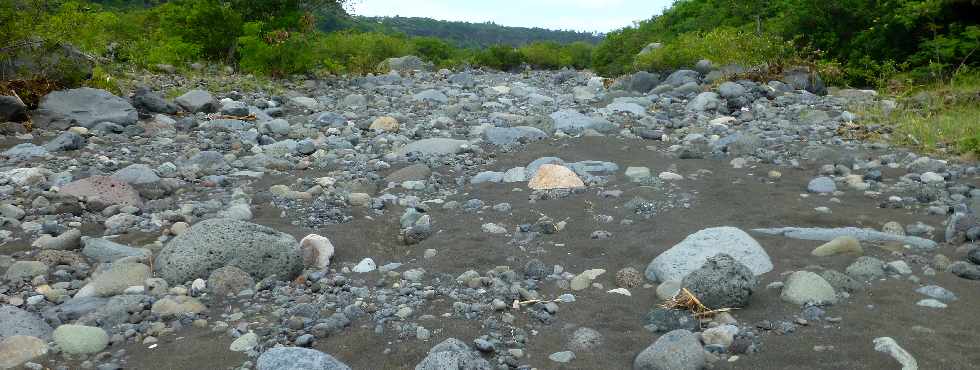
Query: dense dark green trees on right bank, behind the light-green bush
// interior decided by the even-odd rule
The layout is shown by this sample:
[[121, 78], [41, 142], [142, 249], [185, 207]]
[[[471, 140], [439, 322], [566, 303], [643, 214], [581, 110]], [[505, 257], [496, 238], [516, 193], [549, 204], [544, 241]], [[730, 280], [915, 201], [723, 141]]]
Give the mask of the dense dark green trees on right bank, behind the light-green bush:
[[886, 75], [899, 72], [936, 80], [960, 66], [980, 65], [977, 14], [975, 0], [683, 0], [660, 16], [609, 33], [595, 49], [593, 68], [606, 75], [627, 73], [651, 42], [670, 48], [691, 42], [685, 35], [735, 29], [792, 41], [797, 50], [812, 51], [804, 59], [838, 64], [843, 83], [880, 86], [889, 80]]

